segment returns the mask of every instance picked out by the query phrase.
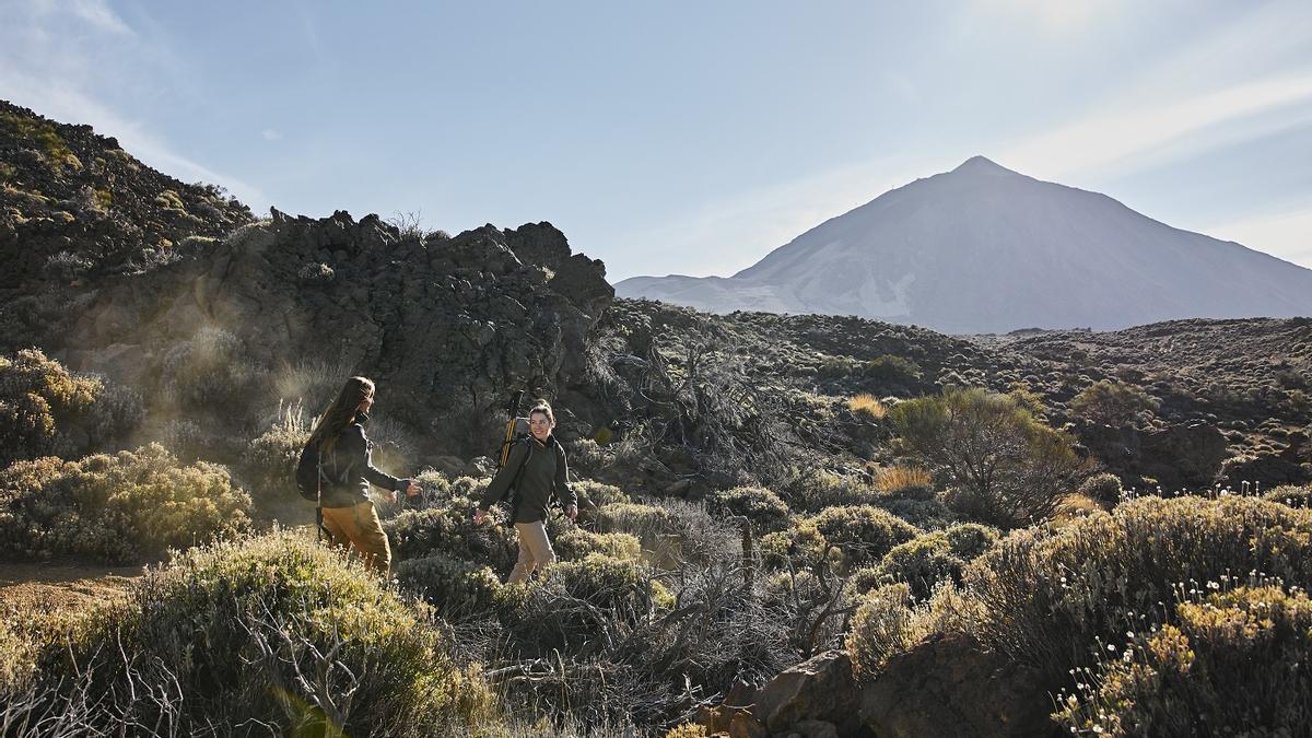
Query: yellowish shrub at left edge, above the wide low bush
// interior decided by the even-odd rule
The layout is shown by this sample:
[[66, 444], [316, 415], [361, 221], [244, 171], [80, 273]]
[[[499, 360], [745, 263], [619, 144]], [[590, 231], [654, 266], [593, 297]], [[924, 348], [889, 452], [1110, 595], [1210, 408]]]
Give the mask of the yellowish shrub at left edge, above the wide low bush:
[[0, 466], [72, 450], [59, 448], [60, 429], [85, 415], [102, 389], [34, 348], [0, 356]]

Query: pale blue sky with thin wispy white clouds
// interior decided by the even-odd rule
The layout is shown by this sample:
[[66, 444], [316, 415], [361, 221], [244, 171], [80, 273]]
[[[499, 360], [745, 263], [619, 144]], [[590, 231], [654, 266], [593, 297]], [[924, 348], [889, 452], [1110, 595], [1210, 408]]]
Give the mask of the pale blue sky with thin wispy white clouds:
[[0, 97], [257, 213], [728, 276], [974, 155], [1312, 268], [1312, 3], [0, 0]]

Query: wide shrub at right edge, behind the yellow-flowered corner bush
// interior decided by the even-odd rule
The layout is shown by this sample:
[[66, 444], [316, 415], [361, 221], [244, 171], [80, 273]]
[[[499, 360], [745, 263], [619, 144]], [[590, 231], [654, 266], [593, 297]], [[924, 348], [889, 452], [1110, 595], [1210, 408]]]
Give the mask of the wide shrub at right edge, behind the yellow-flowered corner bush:
[[1162, 603], [1181, 584], [1248, 573], [1312, 586], [1312, 513], [1256, 498], [1140, 498], [1054, 532], [1013, 532], [967, 567], [977, 607], [963, 626], [1055, 689], [1098, 638], [1169, 617]]

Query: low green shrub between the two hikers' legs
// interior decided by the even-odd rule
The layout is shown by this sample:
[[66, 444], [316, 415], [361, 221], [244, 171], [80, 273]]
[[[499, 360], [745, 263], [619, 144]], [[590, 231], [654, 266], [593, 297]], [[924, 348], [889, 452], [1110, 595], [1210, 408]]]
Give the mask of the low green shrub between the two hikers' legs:
[[463, 498], [454, 498], [445, 507], [407, 510], [383, 520], [392, 555], [404, 561], [442, 554], [509, 574], [517, 552], [514, 527], [496, 517], [475, 525], [471, 511]]

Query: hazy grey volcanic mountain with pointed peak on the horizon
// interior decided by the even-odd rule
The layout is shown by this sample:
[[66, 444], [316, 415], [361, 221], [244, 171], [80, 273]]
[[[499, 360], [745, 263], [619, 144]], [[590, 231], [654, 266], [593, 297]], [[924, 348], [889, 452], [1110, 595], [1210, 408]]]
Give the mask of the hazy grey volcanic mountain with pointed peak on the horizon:
[[976, 156], [821, 223], [732, 277], [634, 277], [617, 293], [947, 332], [1109, 330], [1308, 315], [1312, 271]]

